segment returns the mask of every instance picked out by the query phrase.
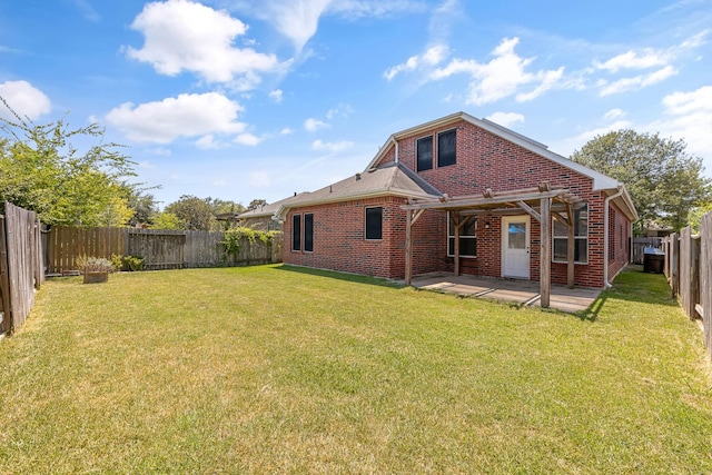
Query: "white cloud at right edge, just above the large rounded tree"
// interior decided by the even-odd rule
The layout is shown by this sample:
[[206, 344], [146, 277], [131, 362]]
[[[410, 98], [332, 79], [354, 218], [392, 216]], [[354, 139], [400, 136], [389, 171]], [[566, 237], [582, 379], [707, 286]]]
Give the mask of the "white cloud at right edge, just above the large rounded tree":
[[649, 126], [653, 131], [684, 138], [688, 150], [705, 158], [712, 171], [712, 86], [690, 92], [673, 92], [662, 100], [665, 118]]

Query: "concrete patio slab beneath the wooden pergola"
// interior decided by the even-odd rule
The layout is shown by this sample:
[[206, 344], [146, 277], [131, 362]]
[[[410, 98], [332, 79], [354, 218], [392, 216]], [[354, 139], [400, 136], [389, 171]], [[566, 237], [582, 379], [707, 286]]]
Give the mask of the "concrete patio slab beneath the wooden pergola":
[[[413, 287], [456, 294], [463, 297], [487, 298], [522, 306], [540, 306], [537, 281], [495, 279], [468, 275], [454, 276], [447, 273], [425, 274], [413, 277]], [[573, 288], [552, 285], [550, 308], [576, 313], [585, 310], [601, 294], [595, 288]]]

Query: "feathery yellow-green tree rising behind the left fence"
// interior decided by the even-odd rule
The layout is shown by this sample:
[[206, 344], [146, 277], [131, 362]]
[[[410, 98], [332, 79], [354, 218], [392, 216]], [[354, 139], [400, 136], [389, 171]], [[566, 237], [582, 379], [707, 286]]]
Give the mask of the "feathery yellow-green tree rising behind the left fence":
[[[10, 111], [12, 108], [0, 97]], [[0, 202], [36, 211], [49, 225], [121, 226], [131, 216], [122, 182], [134, 162], [103, 144], [96, 123], [69, 129], [65, 120], [33, 125], [0, 119]], [[97, 140], [80, 154], [70, 140]]]

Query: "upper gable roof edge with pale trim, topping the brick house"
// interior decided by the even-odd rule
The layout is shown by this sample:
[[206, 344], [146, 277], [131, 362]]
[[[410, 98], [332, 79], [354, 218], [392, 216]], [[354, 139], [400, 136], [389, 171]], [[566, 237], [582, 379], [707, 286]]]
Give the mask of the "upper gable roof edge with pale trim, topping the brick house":
[[625, 190], [624, 184], [606, 175], [603, 175], [600, 171], [593, 170], [581, 164], [572, 161], [566, 157], [562, 157], [561, 155], [554, 154], [553, 151], [548, 150], [548, 147], [546, 147], [545, 145], [537, 142], [535, 140], [532, 140], [528, 137], [525, 137], [521, 133], [517, 133], [513, 130], [502, 127], [498, 123], [495, 123], [491, 120], [477, 119], [466, 112], [452, 113], [449, 116], [445, 116], [439, 119], [435, 119], [429, 122], [425, 122], [419, 126], [411, 127], [409, 129], [405, 129], [399, 132], [393, 133], [390, 137], [388, 137], [384, 146], [380, 147], [380, 150], [378, 151], [378, 154], [376, 154], [376, 156], [370, 161], [370, 164], [368, 164], [368, 166], [366, 167], [366, 170], [376, 166], [376, 164], [378, 164], [384, 158], [384, 156], [389, 151], [388, 145], [390, 142], [395, 142], [398, 139], [415, 135], [419, 131], [424, 132], [427, 130], [432, 130], [434, 128], [447, 126], [448, 123], [455, 123], [459, 120], [469, 122], [491, 133], [494, 133], [497, 137], [502, 137], [503, 139], [506, 139], [513, 144], [516, 144], [520, 147], [523, 147], [536, 155], [547, 158], [554, 161], [555, 164], [561, 165], [562, 167], [568, 168], [570, 170], [576, 171], [585, 177], [591, 178], [593, 180], [594, 191], [606, 191], [606, 194], [613, 195], [622, 189], [623, 190], [622, 195], [620, 195], [616, 199], [614, 199], [614, 201], [616, 201], [616, 205], [619, 205], [621, 209], [626, 211], [626, 215], [629, 216], [629, 218], [631, 218], [632, 220], [637, 219], [637, 212], [635, 211], [635, 206], [633, 206], [633, 201], [631, 200], [631, 197], [629, 196], [627, 190]]

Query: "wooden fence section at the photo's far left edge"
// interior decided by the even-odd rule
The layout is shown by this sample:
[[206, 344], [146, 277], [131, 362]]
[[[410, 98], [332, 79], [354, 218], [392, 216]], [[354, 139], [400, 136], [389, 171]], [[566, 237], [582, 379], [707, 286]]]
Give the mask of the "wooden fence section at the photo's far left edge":
[[34, 212], [6, 201], [0, 216], [1, 334], [24, 324], [34, 305], [34, 289], [44, 281], [40, 234]]

